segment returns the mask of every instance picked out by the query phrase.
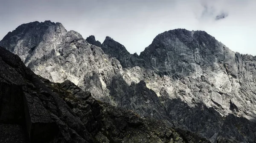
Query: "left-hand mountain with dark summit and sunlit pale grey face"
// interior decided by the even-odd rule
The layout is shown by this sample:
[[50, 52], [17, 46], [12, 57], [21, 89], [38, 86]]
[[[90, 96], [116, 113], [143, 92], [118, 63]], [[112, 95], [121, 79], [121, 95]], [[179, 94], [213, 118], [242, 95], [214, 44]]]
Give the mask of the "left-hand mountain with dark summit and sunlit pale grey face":
[[[27, 27], [32, 27], [31, 31], [26, 30]], [[17, 37], [15, 33], [22, 35]], [[35, 35], [43, 38], [41, 41], [28, 38]], [[11, 44], [12, 41], [19, 44]], [[0, 43], [11, 52], [22, 55], [22, 61], [36, 74], [53, 82], [70, 80], [89, 90], [97, 99], [114, 104], [107, 85], [112, 82], [113, 75], [122, 73], [122, 67], [101, 48], [88, 44], [78, 32], [67, 32], [60, 23], [32, 22], [20, 25]], [[25, 46], [30, 43], [34, 43], [34, 53], [29, 53], [29, 46]]]

